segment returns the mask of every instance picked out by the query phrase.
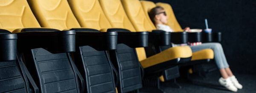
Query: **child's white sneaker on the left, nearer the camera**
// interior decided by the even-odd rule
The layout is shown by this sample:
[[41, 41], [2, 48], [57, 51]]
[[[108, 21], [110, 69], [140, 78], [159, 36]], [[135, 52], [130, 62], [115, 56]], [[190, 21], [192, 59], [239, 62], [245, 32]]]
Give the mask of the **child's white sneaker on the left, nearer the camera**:
[[233, 92], [237, 91], [237, 88], [233, 85], [232, 81], [228, 77], [227, 79], [223, 79], [222, 77], [219, 79], [219, 83], [226, 87], [228, 90], [231, 90]]

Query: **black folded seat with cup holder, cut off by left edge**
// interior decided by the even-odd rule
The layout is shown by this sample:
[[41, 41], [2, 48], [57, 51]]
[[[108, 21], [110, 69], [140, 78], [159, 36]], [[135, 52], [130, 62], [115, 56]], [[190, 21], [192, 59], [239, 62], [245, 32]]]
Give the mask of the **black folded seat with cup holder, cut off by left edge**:
[[17, 62], [17, 35], [0, 29], [0, 93], [26, 93], [25, 78]]

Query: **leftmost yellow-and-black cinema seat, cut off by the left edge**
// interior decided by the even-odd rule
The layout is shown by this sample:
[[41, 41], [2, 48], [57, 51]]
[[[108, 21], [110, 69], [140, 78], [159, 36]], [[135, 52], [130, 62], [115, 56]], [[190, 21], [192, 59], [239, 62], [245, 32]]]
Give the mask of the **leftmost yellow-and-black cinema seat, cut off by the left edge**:
[[40, 27], [27, 7], [23, 0], [0, 0], [0, 93], [39, 93], [23, 61], [17, 57], [17, 34], [11, 33], [17, 28]]

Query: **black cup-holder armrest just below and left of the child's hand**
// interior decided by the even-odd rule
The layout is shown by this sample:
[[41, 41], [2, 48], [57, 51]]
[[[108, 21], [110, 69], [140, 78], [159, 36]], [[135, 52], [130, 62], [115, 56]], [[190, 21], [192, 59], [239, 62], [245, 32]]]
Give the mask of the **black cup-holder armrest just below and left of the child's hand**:
[[171, 33], [172, 42], [175, 44], [183, 44], [188, 42], [188, 32], [172, 32]]

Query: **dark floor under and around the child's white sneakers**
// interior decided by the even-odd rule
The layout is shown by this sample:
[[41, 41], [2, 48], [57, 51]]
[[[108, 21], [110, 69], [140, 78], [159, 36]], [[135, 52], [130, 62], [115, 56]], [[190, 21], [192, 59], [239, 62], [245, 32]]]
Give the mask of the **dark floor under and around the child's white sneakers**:
[[[236, 93], [256, 93], [256, 74], [234, 73], [243, 89]], [[182, 88], [168, 86], [170, 82], [164, 82], [161, 88], [166, 93], [234, 93], [222, 87], [218, 83], [220, 74], [218, 71], [212, 72], [207, 78], [201, 78], [198, 75], [192, 75], [192, 82], [187, 79], [177, 79], [177, 83]]]

